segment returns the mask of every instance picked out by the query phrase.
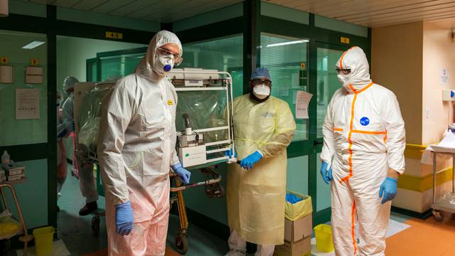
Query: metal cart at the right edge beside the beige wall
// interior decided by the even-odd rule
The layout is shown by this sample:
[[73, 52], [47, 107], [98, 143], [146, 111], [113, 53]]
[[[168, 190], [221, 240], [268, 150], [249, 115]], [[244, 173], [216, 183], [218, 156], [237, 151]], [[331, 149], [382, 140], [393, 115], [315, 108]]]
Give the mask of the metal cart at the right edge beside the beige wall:
[[[433, 203], [432, 203], [432, 213], [433, 218], [437, 222], [442, 222], [444, 220], [445, 213], [455, 213], [455, 181], [454, 181], [454, 174], [455, 174], [455, 153], [446, 152], [446, 151], [439, 151], [438, 149], [432, 149], [433, 153]], [[437, 171], [437, 154], [445, 154], [452, 156], [452, 191], [444, 195], [443, 197], [437, 198], [436, 189], [436, 176], [441, 171]]]

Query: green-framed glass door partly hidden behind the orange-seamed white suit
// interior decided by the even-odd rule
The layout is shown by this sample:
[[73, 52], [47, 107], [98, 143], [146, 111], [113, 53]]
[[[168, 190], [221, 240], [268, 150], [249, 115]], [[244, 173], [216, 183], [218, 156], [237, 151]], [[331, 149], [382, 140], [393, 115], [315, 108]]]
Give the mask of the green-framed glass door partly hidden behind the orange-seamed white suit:
[[335, 65], [336, 61], [343, 55], [344, 48], [342, 46], [332, 46], [328, 44], [317, 44], [316, 47], [316, 175], [313, 176], [313, 183], [316, 186], [312, 186], [313, 189], [310, 191], [311, 196], [315, 196], [314, 203], [314, 218], [315, 222], [326, 222], [330, 220], [331, 214], [331, 191], [330, 186], [327, 185], [321, 175], [319, 169], [321, 169], [320, 154], [322, 149], [323, 135], [322, 126], [324, 118], [326, 117], [328, 103], [330, 102], [333, 93], [341, 87], [341, 83], [336, 77]]

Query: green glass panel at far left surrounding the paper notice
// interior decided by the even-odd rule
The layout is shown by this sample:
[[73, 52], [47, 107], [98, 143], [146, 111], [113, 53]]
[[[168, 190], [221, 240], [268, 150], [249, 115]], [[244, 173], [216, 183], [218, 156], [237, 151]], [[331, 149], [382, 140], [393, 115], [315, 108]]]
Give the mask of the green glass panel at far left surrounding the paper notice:
[[[45, 35], [0, 31], [0, 56], [9, 58], [14, 68], [14, 82], [0, 84], [0, 146], [47, 142], [47, 49], [46, 43], [33, 49], [23, 49], [33, 41], [46, 41]], [[43, 68], [42, 84], [26, 84], [26, 67], [31, 58], [38, 58]], [[16, 89], [40, 91], [40, 119], [16, 120]]]

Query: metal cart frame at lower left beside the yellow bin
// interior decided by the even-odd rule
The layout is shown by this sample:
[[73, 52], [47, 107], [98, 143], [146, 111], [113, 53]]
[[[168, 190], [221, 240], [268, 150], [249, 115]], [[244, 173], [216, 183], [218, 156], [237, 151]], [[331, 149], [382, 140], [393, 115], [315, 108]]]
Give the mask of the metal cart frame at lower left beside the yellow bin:
[[[9, 206], [8, 202], [6, 201], [6, 194], [4, 189], [9, 188], [11, 191], [11, 195], [13, 196], [14, 204], [16, 205], [16, 210], [19, 215], [19, 223], [21, 224], [21, 230], [18, 230], [16, 233], [11, 233], [11, 234], [6, 234], [4, 236], [0, 236], [0, 240], [9, 240], [10, 238], [13, 238], [16, 235], [21, 235], [19, 237], [19, 240], [23, 242], [23, 255], [27, 255], [27, 250], [28, 250], [28, 242], [33, 240], [33, 235], [28, 235], [27, 231], [27, 226], [25, 221], [23, 220], [23, 215], [22, 215], [22, 210], [21, 206], [19, 206], [19, 201], [16, 196], [16, 190], [14, 189], [14, 185], [18, 183], [23, 183], [26, 182], [26, 178], [23, 178], [18, 181], [5, 181], [0, 183], [0, 193], [1, 193], [1, 201], [4, 205], [4, 210], [9, 211]], [[10, 212], [10, 211], [9, 211]]]

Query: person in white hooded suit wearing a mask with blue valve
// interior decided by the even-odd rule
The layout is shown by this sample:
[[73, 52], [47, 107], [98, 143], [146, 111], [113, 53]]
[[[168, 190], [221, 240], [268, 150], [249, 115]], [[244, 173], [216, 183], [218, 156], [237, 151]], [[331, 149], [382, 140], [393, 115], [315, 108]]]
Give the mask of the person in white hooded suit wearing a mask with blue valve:
[[177, 36], [160, 31], [134, 74], [102, 103], [98, 158], [106, 193], [109, 255], [164, 255], [169, 171], [191, 173], [176, 154], [176, 90], [166, 78], [181, 63]]

